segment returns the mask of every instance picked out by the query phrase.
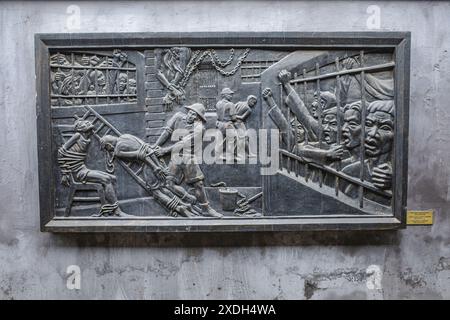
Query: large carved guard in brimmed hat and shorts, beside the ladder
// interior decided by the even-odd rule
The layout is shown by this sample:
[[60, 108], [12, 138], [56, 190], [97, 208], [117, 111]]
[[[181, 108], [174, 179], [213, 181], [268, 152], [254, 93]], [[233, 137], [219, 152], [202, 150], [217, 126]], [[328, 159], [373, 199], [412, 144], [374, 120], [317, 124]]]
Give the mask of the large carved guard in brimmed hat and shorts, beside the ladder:
[[[167, 177], [167, 183], [179, 186], [184, 182], [192, 186], [195, 190], [197, 203], [202, 209], [202, 215], [220, 218], [222, 215], [209, 205], [203, 183], [205, 177], [196, 158], [196, 154], [202, 151], [201, 142], [205, 130], [204, 123], [206, 122], [205, 107], [201, 103], [195, 103], [185, 108], [187, 114], [177, 112], [169, 119], [163, 133], [156, 142], [156, 146], [159, 148], [156, 148], [155, 152], [158, 157], [161, 157], [174, 151], [169, 162], [170, 175]], [[181, 131], [177, 132], [177, 130], [184, 130], [187, 134], [180, 139], [179, 133]], [[180, 140], [168, 147], [162, 147], [169, 138], [172, 141]], [[180, 150], [183, 151], [182, 161], [175, 158], [179, 155]]]

